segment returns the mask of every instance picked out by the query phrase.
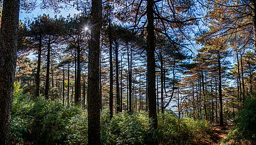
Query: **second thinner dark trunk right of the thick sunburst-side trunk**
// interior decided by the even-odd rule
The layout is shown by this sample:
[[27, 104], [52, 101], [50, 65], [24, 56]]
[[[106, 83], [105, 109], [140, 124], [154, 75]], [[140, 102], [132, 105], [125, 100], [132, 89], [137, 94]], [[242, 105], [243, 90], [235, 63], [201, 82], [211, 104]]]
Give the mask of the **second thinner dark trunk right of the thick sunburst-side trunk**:
[[119, 66], [118, 66], [118, 43], [115, 43], [115, 60], [116, 60], [116, 98], [117, 98], [117, 112], [121, 112], [120, 107], [120, 90], [119, 90]]

